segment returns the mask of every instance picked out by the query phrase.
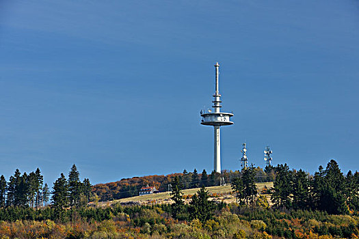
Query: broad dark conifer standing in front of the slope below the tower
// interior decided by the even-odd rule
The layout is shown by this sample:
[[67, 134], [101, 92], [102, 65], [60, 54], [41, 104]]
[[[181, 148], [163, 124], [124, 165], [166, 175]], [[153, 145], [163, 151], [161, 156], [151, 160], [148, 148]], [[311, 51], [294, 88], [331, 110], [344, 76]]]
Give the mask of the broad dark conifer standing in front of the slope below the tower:
[[193, 197], [190, 204], [190, 213], [193, 219], [199, 219], [202, 223], [212, 218], [214, 208], [212, 201], [209, 201], [209, 193], [206, 188], [202, 186]]

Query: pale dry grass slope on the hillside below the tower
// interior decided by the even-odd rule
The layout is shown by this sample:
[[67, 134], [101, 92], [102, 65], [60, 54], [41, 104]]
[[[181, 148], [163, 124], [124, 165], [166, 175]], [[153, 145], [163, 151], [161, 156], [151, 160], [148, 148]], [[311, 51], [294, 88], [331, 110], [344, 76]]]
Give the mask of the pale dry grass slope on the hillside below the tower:
[[[267, 186], [267, 188], [271, 188], [273, 186], [273, 182], [259, 182], [259, 183], [257, 183], [258, 192], [261, 192], [264, 186]], [[183, 190], [183, 194], [184, 195], [194, 195], [199, 190], [200, 190], [200, 188], [185, 189], [185, 190]], [[232, 192], [232, 188], [230, 187], [230, 185], [226, 185], [226, 186], [209, 186], [209, 187], [207, 187], [207, 191], [209, 191], [210, 194], [212, 194], [212, 193], [217, 193], [217, 194], [222, 193], [224, 195], [230, 195], [230, 193]], [[138, 202], [164, 201], [166, 199], [170, 199], [170, 197], [171, 197], [171, 195], [168, 192], [166, 192], [166, 193], [155, 193], [155, 194], [151, 194], [151, 195], [127, 197], [127, 198], [123, 198], [123, 199], [109, 201], [107, 203], [127, 202], [127, 201], [138, 201]]]

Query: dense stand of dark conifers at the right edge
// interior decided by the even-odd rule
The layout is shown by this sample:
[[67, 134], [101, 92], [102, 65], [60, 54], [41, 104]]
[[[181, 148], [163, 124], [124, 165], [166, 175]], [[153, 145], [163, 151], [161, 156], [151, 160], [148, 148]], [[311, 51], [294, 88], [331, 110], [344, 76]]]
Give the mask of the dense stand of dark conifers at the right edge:
[[271, 201], [277, 208], [321, 210], [329, 214], [359, 211], [359, 173], [341, 172], [338, 163], [330, 160], [310, 175], [300, 169], [289, 170], [287, 164], [274, 168], [276, 180]]

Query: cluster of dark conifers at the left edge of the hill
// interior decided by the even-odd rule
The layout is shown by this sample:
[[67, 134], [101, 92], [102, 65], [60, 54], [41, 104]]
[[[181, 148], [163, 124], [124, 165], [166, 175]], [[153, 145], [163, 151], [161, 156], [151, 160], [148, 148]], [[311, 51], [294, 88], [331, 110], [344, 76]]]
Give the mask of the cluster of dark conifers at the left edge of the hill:
[[79, 180], [79, 171], [72, 165], [66, 180], [64, 173], [53, 184], [53, 191], [44, 184], [44, 176], [40, 169], [29, 174], [21, 175], [16, 169], [7, 181], [4, 175], [0, 176], [0, 207], [29, 207], [40, 208], [48, 205], [51, 197], [51, 207], [59, 210], [66, 207], [86, 205], [91, 197], [90, 180]]

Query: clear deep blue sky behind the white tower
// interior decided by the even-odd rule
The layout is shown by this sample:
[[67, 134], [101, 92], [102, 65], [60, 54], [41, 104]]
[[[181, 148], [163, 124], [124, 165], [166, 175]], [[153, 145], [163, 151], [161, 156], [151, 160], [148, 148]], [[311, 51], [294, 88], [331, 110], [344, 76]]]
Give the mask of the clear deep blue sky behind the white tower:
[[0, 1], [0, 174], [93, 184], [213, 169], [359, 167], [359, 1]]

